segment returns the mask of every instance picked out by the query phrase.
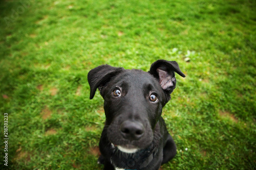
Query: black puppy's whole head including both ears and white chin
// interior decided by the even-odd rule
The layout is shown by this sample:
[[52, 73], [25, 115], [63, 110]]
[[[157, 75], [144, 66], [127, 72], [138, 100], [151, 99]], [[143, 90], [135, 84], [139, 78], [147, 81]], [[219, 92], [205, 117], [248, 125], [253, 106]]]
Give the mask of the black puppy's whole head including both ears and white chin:
[[157, 60], [150, 71], [101, 65], [88, 74], [93, 99], [98, 88], [104, 99], [107, 135], [113, 145], [126, 153], [152, 143], [163, 106], [176, 86], [178, 63]]

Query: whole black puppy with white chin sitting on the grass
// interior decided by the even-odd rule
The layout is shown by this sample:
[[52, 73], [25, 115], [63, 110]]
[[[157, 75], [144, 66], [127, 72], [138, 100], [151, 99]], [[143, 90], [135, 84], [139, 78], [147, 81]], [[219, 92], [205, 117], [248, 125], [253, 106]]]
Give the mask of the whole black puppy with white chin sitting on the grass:
[[175, 142], [161, 117], [176, 86], [178, 63], [158, 60], [150, 71], [101, 65], [88, 74], [90, 99], [99, 88], [106, 122], [98, 163], [104, 169], [159, 169], [176, 155]]

